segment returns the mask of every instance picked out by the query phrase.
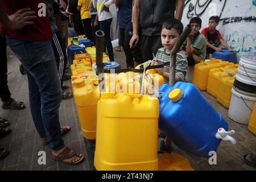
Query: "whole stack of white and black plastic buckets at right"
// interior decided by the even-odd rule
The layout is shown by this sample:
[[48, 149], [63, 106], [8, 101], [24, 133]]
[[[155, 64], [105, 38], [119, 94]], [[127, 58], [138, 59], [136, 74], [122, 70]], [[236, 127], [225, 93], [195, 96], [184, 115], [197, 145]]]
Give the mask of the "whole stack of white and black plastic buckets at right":
[[229, 118], [238, 123], [249, 124], [256, 101], [256, 53], [243, 55], [232, 88]]

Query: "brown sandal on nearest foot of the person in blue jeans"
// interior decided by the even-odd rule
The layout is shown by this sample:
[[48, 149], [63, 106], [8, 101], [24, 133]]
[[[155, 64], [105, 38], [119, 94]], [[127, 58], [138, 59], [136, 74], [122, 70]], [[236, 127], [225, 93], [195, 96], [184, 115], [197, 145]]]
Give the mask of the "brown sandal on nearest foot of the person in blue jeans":
[[[72, 159], [74, 156], [77, 156], [79, 159]], [[69, 147], [65, 147], [65, 149], [60, 152], [59, 155], [52, 154], [52, 159], [62, 163], [75, 165], [81, 163], [82, 160], [84, 160], [84, 156], [81, 153], [72, 151]]]

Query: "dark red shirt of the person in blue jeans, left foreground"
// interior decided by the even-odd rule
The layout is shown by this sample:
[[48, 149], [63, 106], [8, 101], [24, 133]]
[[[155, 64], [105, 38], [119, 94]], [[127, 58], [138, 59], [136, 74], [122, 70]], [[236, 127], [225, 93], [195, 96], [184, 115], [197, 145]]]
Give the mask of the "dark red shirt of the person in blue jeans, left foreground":
[[8, 15], [14, 14], [19, 9], [30, 7], [31, 10], [35, 11], [34, 15], [36, 16], [35, 19], [30, 20], [34, 22], [34, 24], [27, 25], [18, 31], [11, 31], [2, 28], [2, 32], [15, 39], [28, 40], [32, 42], [46, 42], [47, 40], [50, 40], [52, 38], [52, 33], [47, 9], [44, 10], [44, 12], [46, 12], [46, 16], [40, 17], [38, 15], [38, 13], [42, 13], [43, 10], [42, 6], [39, 6], [39, 3], [44, 2], [44, 0], [1, 0], [0, 3], [3, 10], [5, 10]]

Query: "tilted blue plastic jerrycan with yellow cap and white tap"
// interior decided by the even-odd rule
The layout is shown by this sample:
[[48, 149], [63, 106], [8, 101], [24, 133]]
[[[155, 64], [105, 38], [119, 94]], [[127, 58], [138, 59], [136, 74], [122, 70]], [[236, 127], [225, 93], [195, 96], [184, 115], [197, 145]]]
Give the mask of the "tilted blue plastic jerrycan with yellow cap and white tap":
[[[228, 130], [222, 115], [191, 83], [177, 82], [173, 88], [164, 84], [159, 92], [159, 129], [182, 150], [205, 158], [212, 156], [209, 152], [217, 151], [221, 142], [216, 136], [218, 130]], [[231, 141], [229, 138], [225, 140]]]

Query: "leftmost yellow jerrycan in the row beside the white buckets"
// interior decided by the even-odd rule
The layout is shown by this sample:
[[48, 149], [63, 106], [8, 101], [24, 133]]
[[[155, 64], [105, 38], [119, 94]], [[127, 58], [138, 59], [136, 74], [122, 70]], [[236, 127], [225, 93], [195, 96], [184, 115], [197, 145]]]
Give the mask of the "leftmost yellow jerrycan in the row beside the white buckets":
[[195, 65], [193, 81], [194, 84], [199, 90], [205, 91], [207, 90], [208, 84], [208, 76], [210, 69], [225, 67], [226, 65], [231, 65], [233, 63], [229, 63], [228, 61], [221, 60], [210, 60], [207, 63], [199, 63]]

